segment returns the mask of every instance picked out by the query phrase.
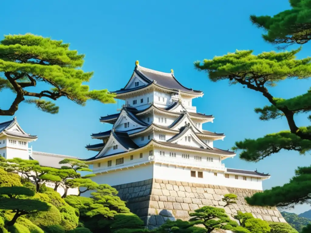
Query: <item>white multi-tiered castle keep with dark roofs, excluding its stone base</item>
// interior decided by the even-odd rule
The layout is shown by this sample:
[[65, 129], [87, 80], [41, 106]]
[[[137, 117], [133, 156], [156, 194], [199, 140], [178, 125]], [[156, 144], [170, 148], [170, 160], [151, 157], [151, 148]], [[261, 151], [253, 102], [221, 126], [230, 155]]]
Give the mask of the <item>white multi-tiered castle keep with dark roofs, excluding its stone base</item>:
[[95, 182], [113, 186], [156, 178], [262, 190], [262, 180], [270, 177], [225, 167], [222, 161], [235, 153], [213, 147], [225, 135], [203, 130], [214, 117], [192, 106], [203, 93], [183, 87], [173, 71], [153, 71], [137, 62], [128, 84], [115, 93], [125, 105], [119, 114], [101, 118], [112, 130], [93, 134], [102, 143], [86, 147], [98, 152], [86, 160]]

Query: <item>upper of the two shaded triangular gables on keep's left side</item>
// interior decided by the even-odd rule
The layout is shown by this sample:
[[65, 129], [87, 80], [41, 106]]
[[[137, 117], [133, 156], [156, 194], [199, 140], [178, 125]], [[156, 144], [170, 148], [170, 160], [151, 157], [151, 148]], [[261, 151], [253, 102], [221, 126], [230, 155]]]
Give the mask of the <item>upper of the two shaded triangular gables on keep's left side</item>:
[[[122, 124], [129, 123], [129, 127], [124, 128]], [[119, 127], [118, 127], [119, 126]], [[114, 122], [113, 128], [117, 130], [130, 130], [134, 127], [142, 127], [146, 128], [148, 126], [147, 123], [144, 123], [137, 119], [133, 114], [127, 112], [124, 108], [121, 110], [119, 117], [117, 118], [116, 122]], [[124, 128], [124, 129], [123, 129]]]

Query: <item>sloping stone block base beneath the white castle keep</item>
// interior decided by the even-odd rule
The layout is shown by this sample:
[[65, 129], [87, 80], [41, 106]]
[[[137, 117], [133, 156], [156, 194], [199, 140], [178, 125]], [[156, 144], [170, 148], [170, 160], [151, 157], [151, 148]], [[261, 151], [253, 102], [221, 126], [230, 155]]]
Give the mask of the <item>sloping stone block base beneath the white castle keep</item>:
[[[167, 219], [188, 220], [189, 212], [205, 205], [224, 208], [233, 217], [238, 210], [250, 212], [265, 221], [286, 222], [275, 207], [249, 206], [244, 198], [260, 190], [238, 189], [219, 185], [149, 179], [114, 186], [128, 208], [141, 217], [148, 228], [162, 225]], [[236, 194], [236, 204], [224, 207], [225, 194]]]

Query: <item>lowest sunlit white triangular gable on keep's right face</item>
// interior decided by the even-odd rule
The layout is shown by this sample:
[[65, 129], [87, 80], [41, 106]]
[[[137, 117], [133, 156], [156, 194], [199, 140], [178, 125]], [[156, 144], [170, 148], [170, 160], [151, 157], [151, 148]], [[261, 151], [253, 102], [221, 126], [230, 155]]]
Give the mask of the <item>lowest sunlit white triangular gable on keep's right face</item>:
[[[188, 141], [188, 137], [191, 138], [190, 142]], [[169, 139], [168, 142], [205, 149], [212, 149], [196, 135], [189, 123], [187, 126], [185, 126], [182, 132]]]

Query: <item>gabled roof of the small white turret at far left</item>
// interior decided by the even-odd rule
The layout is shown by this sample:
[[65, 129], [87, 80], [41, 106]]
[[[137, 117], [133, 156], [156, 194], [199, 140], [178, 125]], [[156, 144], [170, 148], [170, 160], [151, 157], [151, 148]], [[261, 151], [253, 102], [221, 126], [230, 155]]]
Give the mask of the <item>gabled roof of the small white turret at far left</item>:
[[[12, 131], [12, 127], [16, 126], [18, 131]], [[17, 123], [16, 117], [13, 117], [13, 120], [5, 121], [0, 123], [0, 133], [4, 135], [19, 137], [19, 138], [28, 138], [28, 139], [37, 139], [36, 135], [26, 134], [26, 132], [19, 126]]]

